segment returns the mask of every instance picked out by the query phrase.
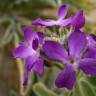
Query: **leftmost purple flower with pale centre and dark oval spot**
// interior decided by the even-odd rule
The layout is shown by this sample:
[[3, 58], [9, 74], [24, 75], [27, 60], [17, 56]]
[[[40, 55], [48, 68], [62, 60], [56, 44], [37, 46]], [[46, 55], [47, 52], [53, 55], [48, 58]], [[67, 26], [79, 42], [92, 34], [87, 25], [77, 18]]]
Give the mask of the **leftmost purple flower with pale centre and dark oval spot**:
[[31, 70], [39, 75], [44, 73], [44, 61], [40, 56], [40, 47], [43, 44], [44, 36], [41, 32], [32, 31], [30, 27], [25, 27], [23, 31], [25, 42], [14, 50], [13, 56], [25, 59], [26, 74], [23, 84], [26, 85]]

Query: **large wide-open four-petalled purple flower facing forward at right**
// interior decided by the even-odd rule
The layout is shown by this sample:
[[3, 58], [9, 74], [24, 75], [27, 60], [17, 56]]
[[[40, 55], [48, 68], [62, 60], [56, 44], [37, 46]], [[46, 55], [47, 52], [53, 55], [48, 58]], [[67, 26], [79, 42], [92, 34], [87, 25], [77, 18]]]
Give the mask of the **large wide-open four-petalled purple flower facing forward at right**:
[[85, 74], [96, 76], [96, 59], [84, 58], [87, 39], [84, 32], [74, 31], [68, 37], [68, 49], [54, 41], [46, 41], [43, 45], [45, 54], [65, 64], [64, 70], [58, 75], [55, 84], [58, 88], [72, 89], [76, 83], [76, 69]]

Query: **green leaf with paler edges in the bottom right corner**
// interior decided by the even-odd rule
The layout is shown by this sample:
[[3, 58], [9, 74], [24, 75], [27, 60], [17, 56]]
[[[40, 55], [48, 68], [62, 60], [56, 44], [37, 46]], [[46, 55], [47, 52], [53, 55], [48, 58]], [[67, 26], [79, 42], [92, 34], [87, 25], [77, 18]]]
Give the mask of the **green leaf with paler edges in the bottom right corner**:
[[82, 76], [79, 81], [77, 81], [75, 90], [75, 96], [96, 96], [94, 86]]

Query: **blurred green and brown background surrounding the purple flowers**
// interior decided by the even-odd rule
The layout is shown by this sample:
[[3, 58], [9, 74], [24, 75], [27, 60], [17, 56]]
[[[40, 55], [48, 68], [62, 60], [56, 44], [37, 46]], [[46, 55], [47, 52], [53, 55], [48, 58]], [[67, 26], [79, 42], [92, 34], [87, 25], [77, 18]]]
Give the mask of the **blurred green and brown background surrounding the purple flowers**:
[[[23, 40], [22, 27], [36, 18], [56, 18], [57, 8], [68, 4], [68, 16], [83, 9], [85, 32], [96, 34], [96, 0], [0, 0], [0, 96], [66, 96], [68, 91], [53, 84], [58, 69], [46, 68], [44, 77], [32, 73], [30, 84], [22, 86], [24, 66], [14, 59], [13, 49]], [[65, 90], [65, 91], [64, 91]], [[96, 96], [96, 78], [82, 77], [73, 96]]]

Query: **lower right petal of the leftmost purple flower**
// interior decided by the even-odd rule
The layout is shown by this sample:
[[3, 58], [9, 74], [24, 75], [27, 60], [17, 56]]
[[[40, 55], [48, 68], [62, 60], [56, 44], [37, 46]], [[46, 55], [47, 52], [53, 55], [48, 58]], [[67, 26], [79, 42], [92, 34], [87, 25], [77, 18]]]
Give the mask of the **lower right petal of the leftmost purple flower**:
[[44, 74], [44, 61], [42, 58], [39, 58], [35, 63], [34, 66], [32, 67], [32, 70], [39, 75]]

